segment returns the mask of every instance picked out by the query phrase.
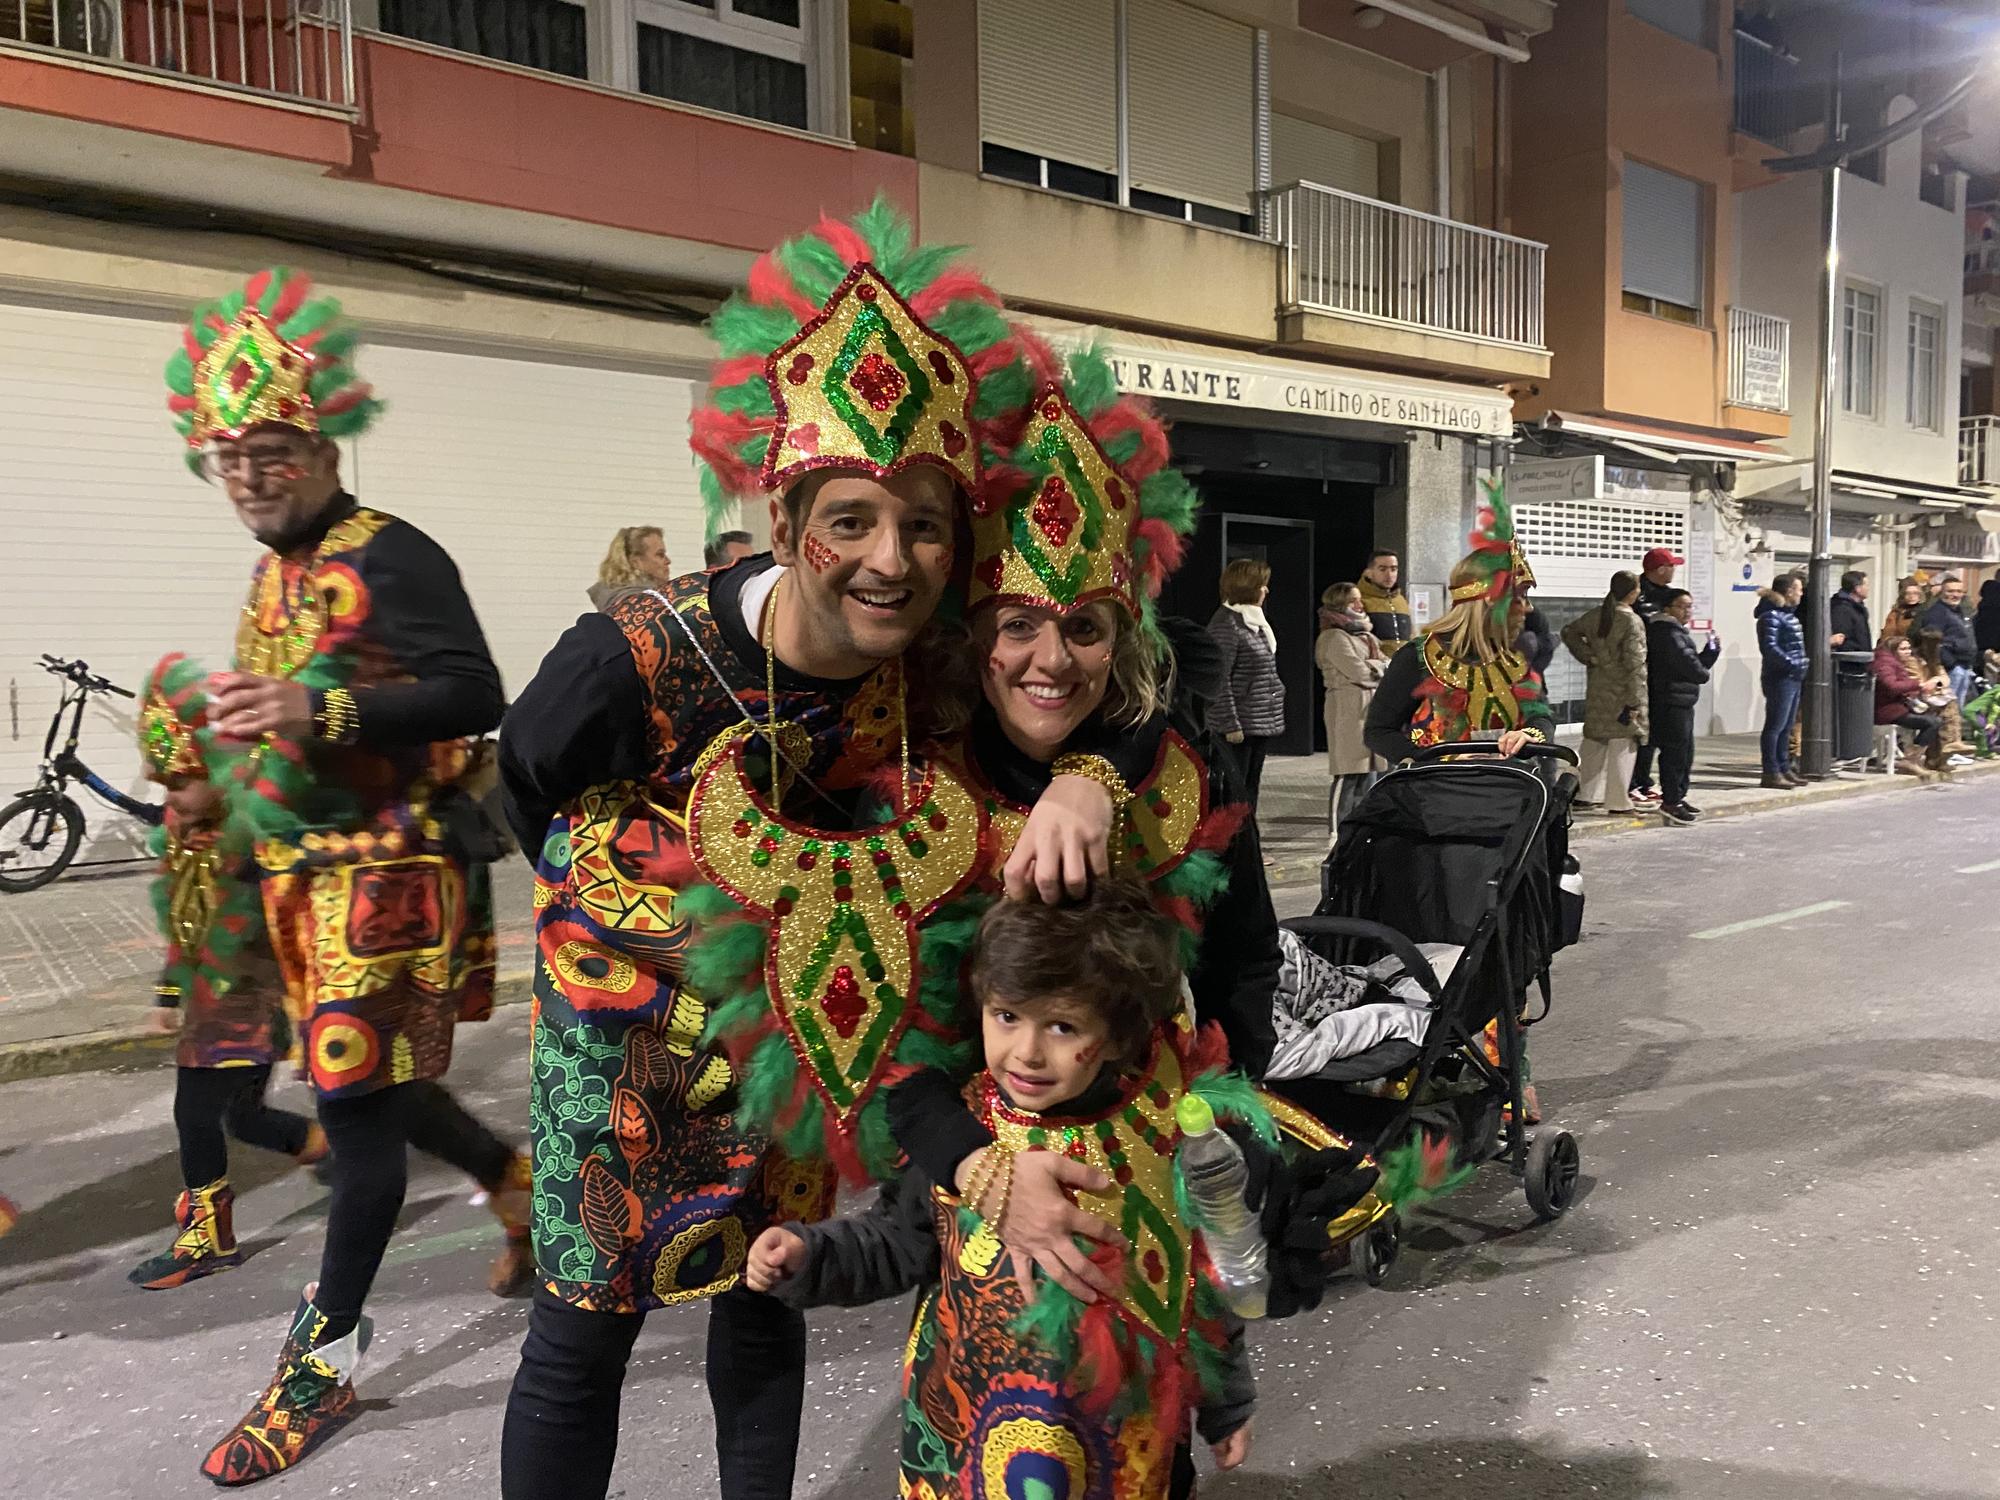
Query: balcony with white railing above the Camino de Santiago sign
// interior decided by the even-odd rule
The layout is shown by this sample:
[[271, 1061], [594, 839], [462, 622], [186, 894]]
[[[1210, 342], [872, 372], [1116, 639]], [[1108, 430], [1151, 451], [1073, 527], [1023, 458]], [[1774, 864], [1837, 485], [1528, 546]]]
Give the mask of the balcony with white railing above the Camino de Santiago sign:
[[1288, 342], [1448, 372], [1548, 374], [1544, 244], [1312, 182], [1274, 188], [1264, 210]]

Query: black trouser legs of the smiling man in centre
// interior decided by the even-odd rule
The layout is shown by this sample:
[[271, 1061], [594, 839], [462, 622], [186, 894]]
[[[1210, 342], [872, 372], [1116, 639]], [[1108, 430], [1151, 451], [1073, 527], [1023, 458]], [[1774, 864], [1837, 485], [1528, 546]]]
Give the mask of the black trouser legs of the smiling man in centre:
[[[584, 1312], [534, 1290], [500, 1434], [502, 1500], [602, 1500], [644, 1312]], [[806, 1316], [736, 1288], [708, 1302], [708, 1402], [722, 1500], [786, 1500], [806, 1400]]]

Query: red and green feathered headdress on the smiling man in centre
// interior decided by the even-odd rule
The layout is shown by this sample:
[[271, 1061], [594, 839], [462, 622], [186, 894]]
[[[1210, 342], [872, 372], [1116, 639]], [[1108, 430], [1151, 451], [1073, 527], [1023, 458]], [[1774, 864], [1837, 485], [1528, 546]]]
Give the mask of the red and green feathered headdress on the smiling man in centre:
[[690, 428], [708, 534], [814, 468], [932, 464], [972, 494], [982, 438], [1028, 400], [1000, 296], [886, 198], [750, 268], [708, 330], [722, 360]]

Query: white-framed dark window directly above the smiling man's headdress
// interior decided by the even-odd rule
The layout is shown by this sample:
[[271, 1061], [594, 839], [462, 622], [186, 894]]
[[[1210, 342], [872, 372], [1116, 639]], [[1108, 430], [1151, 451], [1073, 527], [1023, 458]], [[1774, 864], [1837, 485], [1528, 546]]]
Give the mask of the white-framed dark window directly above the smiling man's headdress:
[[638, 90], [804, 130], [800, 0], [638, 0]]

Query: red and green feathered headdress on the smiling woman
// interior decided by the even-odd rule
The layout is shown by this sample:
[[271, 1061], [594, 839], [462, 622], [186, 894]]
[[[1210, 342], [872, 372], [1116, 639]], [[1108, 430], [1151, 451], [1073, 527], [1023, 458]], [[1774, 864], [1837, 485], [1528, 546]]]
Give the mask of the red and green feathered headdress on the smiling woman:
[[1168, 468], [1152, 408], [1118, 394], [1104, 350], [1062, 360], [1022, 342], [1036, 394], [1020, 446], [974, 498], [968, 608], [1002, 600], [1070, 612], [1108, 598], [1150, 628], [1194, 530], [1194, 486]]

